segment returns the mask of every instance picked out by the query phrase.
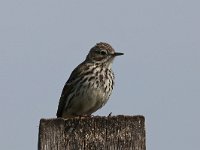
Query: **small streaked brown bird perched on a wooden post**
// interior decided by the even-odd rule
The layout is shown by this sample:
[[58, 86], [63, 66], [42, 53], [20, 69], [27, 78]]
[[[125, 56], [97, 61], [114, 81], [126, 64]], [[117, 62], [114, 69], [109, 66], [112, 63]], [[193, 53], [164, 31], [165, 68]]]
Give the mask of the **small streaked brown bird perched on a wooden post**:
[[108, 101], [114, 86], [112, 63], [115, 52], [106, 42], [93, 46], [86, 59], [71, 73], [62, 90], [56, 116], [91, 116]]

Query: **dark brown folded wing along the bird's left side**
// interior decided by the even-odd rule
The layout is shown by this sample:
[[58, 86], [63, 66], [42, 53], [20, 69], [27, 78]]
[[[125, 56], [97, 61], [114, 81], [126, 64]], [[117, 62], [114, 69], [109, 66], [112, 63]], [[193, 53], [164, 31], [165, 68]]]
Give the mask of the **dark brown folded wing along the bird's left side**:
[[72, 90], [74, 90], [74, 85], [76, 85], [76, 82], [78, 82], [78, 80], [84, 76], [84, 72], [88, 69], [89, 69], [89, 66], [83, 65], [83, 63], [81, 63], [72, 71], [68, 81], [66, 82], [62, 90], [62, 94], [59, 100], [58, 110], [56, 114], [57, 118], [62, 117], [63, 110], [65, 109], [66, 104], [68, 103], [67, 97], [72, 92]]

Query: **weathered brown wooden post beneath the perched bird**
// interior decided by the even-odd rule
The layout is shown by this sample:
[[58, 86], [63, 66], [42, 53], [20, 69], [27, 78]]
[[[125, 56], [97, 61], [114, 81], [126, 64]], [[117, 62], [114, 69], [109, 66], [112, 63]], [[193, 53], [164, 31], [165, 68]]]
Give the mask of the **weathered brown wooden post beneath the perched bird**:
[[39, 150], [145, 150], [143, 116], [41, 119]]

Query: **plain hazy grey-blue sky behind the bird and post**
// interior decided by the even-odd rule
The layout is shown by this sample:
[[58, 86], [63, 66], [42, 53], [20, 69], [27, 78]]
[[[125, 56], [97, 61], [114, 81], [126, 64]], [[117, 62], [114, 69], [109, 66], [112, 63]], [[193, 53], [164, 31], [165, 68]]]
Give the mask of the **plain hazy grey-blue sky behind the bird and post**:
[[0, 149], [37, 149], [41, 118], [91, 47], [108, 42], [115, 87], [94, 115], [144, 115], [148, 150], [199, 149], [200, 1], [1, 0]]

